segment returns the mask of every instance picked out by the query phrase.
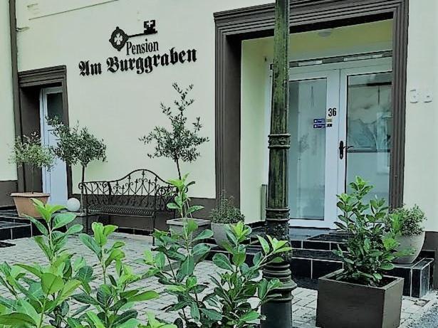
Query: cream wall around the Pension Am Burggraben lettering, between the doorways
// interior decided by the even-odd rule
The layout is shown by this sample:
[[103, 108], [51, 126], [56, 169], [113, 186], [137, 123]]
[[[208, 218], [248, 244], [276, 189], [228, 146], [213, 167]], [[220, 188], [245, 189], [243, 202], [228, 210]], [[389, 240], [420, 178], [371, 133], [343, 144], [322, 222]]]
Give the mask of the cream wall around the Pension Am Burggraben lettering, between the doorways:
[[[118, 0], [88, 1], [95, 6], [77, 6], [71, 1], [59, 2], [57, 11], [49, 5], [53, 0], [17, 1], [19, 70], [53, 65], [67, 66], [68, 105], [70, 122], [87, 125], [96, 136], [108, 144], [108, 162], [94, 163], [88, 179], [115, 179], [133, 169], [147, 167], [165, 179], [176, 175], [170, 159], [149, 159], [152, 147], [138, 141], [155, 125], [167, 121], [160, 102], [172, 104], [175, 92], [172, 83], [194, 84], [196, 100], [189, 110], [190, 117], [202, 117], [202, 134], [210, 142], [201, 147], [202, 157], [195, 164], [185, 164], [183, 171], [198, 181], [192, 196], [215, 197], [214, 168], [214, 18], [217, 11], [265, 4], [267, 0]], [[61, 6], [61, 7], [59, 7]], [[79, 8], [78, 8], [79, 7]], [[196, 10], [194, 8], [196, 7]], [[80, 60], [99, 61], [105, 68], [109, 56], [125, 58], [110, 46], [108, 39], [115, 26], [127, 33], [142, 31], [143, 21], [157, 19], [157, 36], [150, 40], [160, 43], [160, 52], [172, 47], [179, 50], [196, 48], [196, 63], [156, 68], [150, 74], [109, 73], [80, 77]], [[139, 40], [139, 39], [137, 39]], [[80, 179], [73, 170], [73, 191]]]

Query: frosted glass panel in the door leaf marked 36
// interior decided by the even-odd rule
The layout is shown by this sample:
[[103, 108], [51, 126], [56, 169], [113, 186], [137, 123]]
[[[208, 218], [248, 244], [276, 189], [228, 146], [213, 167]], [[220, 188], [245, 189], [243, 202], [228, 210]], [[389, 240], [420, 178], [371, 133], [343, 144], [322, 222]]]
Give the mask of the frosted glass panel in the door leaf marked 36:
[[291, 218], [324, 218], [327, 79], [289, 83]]

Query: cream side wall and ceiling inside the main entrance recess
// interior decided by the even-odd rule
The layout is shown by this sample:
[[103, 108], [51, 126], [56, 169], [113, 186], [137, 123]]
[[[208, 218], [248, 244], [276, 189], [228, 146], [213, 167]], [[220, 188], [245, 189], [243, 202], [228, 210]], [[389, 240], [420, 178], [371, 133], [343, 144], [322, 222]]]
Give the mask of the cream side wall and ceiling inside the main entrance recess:
[[[392, 21], [335, 28], [328, 37], [318, 31], [290, 38], [291, 59], [320, 58], [392, 48]], [[246, 221], [260, 221], [261, 185], [267, 184], [269, 120], [268, 65], [273, 58], [273, 38], [242, 44], [241, 85], [241, 211]]]

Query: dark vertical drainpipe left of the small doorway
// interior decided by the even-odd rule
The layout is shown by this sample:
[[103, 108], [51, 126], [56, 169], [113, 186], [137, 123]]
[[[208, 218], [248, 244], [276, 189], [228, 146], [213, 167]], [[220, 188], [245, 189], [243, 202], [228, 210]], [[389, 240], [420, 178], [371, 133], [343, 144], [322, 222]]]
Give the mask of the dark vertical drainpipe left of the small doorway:
[[[11, 33], [11, 65], [12, 65], [12, 97], [14, 99], [15, 135], [21, 137], [20, 97], [19, 97], [19, 68], [16, 39], [16, 0], [9, 0], [9, 31]], [[18, 191], [24, 192], [24, 167], [17, 166]]]

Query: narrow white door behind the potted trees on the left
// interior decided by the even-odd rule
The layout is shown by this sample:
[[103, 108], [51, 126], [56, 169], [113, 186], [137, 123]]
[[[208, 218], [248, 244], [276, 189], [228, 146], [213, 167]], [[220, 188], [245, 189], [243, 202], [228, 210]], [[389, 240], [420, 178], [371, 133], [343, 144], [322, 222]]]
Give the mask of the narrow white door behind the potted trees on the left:
[[[63, 120], [62, 89], [44, 88], [40, 96], [41, 142], [51, 147], [56, 146], [57, 140], [52, 133], [52, 127], [48, 124], [48, 119], [55, 117]], [[49, 203], [66, 205], [68, 199], [67, 168], [66, 163], [58, 158], [51, 171], [43, 169], [43, 192], [51, 194]]]

